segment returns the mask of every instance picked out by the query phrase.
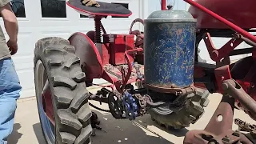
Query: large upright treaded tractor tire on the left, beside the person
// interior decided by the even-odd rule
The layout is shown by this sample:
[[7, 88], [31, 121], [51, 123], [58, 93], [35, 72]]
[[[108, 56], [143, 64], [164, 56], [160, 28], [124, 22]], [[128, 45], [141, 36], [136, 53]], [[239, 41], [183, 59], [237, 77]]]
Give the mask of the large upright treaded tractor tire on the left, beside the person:
[[[40, 39], [34, 49], [34, 83], [38, 113], [46, 142], [49, 144], [89, 144], [92, 127], [89, 92], [84, 82], [86, 75], [74, 46], [63, 38]], [[49, 106], [42, 100], [43, 87], [48, 82], [52, 99], [54, 125], [46, 122], [45, 111]], [[51, 102], [50, 102], [51, 103]], [[48, 125], [52, 126], [50, 131]], [[54, 130], [54, 131], [53, 131]], [[50, 134], [51, 132], [51, 134]], [[54, 135], [54, 136], [52, 136]]]

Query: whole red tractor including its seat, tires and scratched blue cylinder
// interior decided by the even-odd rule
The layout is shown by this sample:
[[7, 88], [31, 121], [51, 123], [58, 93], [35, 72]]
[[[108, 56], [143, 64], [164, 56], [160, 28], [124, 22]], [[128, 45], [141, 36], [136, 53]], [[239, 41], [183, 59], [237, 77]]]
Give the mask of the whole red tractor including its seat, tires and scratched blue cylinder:
[[[127, 17], [125, 7], [94, 1], [69, 0], [66, 4], [94, 18], [95, 30], [70, 38], [40, 39], [34, 49], [34, 80], [39, 117], [48, 143], [90, 143], [97, 115], [89, 100], [105, 102], [114, 118], [134, 120], [150, 114], [167, 128], [182, 129], [204, 113], [211, 93], [223, 94], [205, 130], [191, 130], [184, 143], [252, 143], [232, 130], [234, 107], [256, 118], [256, 1], [185, 0], [189, 11], [154, 11], [145, 20], [135, 19], [129, 34], [107, 34], [102, 18]], [[244, 6], [242, 6], [244, 5]], [[219, 14], [219, 15], [218, 15]], [[135, 22], [144, 32], [132, 30]], [[211, 36], [230, 38], [216, 49]], [[200, 61], [198, 44], [204, 40], [216, 64]], [[234, 50], [246, 42], [252, 46]], [[230, 63], [230, 56], [252, 54]], [[86, 89], [94, 78], [110, 82], [96, 94]], [[133, 85], [135, 84], [135, 86]], [[235, 120], [242, 130], [254, 126]]]

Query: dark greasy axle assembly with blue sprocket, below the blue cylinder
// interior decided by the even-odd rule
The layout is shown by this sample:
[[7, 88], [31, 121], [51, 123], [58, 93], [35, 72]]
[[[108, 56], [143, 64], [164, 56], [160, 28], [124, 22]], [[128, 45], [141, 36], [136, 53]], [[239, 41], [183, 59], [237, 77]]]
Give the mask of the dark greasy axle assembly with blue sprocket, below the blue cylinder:
[[117, 90], [110, 91], [102, 88], [96, 94], [90, 95], [90, 100], [98, 101], [100, 104], [102, 102], [107, 103], [110, 110], [103, 110], [91, 103], [90, 106], [98, 110], [110, 112], [117, 119], [129, 118], [130, 120], [134, 120], [136, 117], [146, 114], [147, 110], [162, 106], [168, 106], [170, 110], [178, 112], [186, 103], [186, 97], [190, 94], [197, 93], [194, 87], [174, 89], [166, 94], [167, 97], [175, 97], [174, 100], [166, 101], [164, 100], [165, 97], [162, 97], [162, 101], [154, 102], [152, 98], [155, 98], [155, 95], [164, 94], [157, 91], [149, 92], [146, 88], [134, 90], [132, 85], [128, 85], [128, 87], [126, 86], [126, 90], [122, 94]]

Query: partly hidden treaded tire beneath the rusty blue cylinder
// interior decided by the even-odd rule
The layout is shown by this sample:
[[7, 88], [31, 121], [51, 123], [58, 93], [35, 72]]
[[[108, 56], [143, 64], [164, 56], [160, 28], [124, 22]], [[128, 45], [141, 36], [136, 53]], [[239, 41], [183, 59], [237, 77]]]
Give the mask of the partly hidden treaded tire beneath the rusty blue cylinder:
[[208, 90], [200, 90], [197, 94], [190, 95], [186, 105], [174, 113], [167, 107], [153, 108], [149, 111], [153, 121], [160, 126], [166, 126], [167, 129], [182, 129], [194, 124], [204, 114], [204, 107], [209, 103]]

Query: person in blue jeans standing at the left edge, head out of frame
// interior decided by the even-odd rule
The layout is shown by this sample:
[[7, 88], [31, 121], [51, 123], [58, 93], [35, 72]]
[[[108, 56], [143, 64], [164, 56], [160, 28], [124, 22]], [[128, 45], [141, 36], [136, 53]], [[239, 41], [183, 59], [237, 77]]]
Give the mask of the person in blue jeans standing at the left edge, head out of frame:
[[22, 86], [11, 58], [18, 50], [18, 22], [11, 9], [10, 0], [0, 0], [0, 14], [9, 36], [6, 42], [0, 26], [0, 144], [6, 144], [13, 131], [17, 99]]

